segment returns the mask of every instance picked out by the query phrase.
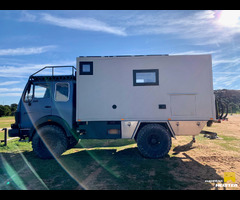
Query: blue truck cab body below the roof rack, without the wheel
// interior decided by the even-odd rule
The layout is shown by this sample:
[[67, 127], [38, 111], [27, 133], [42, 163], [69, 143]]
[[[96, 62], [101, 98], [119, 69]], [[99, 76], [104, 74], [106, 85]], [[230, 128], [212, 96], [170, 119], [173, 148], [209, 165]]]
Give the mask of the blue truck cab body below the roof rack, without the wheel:
[[[40, 125], [39, 123], [49, 123], [50, 118], [62, 119], [62, 121], [51, 121], [58, 124], [59, 127], [72, 129], [75, 120], [73, 114], [75, 109], [74, 89], [75, 76], [73, 74], [69, 76], [30, 76], [19, 101], [15, 114], [16, 122], [12, 124], [9, 136], [19, 136], [20, 138], [30, 136], [31, 139], [31, 134]], [[69, 132], [66, 131], [67, 133]]]

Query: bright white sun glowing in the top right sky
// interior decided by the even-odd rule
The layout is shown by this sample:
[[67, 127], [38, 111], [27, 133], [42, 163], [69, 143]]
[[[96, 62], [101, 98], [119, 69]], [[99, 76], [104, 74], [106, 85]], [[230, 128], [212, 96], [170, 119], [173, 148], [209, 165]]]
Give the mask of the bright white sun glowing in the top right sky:
[[218, 23], [226, 27], [236, 27], [240, 22], [240, 10], [223, 10], [220, 12]]

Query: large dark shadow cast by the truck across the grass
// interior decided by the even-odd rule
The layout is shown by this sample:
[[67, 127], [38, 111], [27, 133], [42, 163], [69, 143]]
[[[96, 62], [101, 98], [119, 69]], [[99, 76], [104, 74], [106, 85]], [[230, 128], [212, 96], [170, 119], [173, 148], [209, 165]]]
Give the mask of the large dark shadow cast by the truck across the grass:
[[42, 160], [32, 151], [0, 153], [0, 189], [208, 190], [213, 186], [205, 180], [222, 179], [186, 153], [146, 159], [136, 145], [103, 146], [73, 148], [57, 160]]

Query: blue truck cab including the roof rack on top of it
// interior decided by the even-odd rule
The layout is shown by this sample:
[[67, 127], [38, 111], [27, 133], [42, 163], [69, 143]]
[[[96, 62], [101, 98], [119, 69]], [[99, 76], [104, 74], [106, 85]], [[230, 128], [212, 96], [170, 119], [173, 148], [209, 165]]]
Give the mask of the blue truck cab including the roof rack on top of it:
[[[54, 75], [54, 70], [59, 68], [70, 68], [72, 74]], [[40, 73], [44, 74], [47, 69], [51, 70], [51, 75], [39, 75]], [[60, 132], [64, 132], [67, 141], [66, 148], [76, 144], [77, 140], [74, 138], [73, 129], [76, 105], [75, 87], [76, 78], [73, 66], [44, 67], [32, 74], [19, 101], [15, 113], [16, 122], [11, 125], [12, 129], [9, 130], [9, 136], [17, 136], [20, 139], [29, 137], [30, 141], [35, 139], [37, 142], [33, 141], [33, 143], [35, 142], [35, 146], [38, 146], [44, 144], [40, 144], [40, 138], [36, 139], [36, 136], [34, 137], [36, 133], [42, 132], [41, 129], [44, 132], [59, 129]], [[36, 135], [40, 136], [41, 134]], [[40, 157], [51, 157], [46, 152]]]

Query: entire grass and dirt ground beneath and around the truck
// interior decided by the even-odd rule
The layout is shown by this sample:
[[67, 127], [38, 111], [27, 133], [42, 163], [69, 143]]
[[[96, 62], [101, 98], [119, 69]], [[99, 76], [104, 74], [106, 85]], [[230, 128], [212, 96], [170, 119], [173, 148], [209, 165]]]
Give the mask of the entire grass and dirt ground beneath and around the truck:
[[[205, 127], [218, 133], [215, 140], [177, 137], [163, 159], [143, 158], [135, 141], [124, 139], [82, 140], [58, 160], [41, 160], [31, 143], [11, 140], [0, 145], [0, 189], [239, 190], [239, 123], [240, 115], [234, 115]], [[215, 187], [212, 180], [222, 181], [224, 172], [235, 173], [237, 187]]]

